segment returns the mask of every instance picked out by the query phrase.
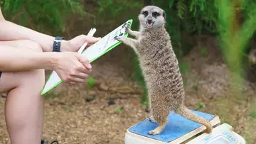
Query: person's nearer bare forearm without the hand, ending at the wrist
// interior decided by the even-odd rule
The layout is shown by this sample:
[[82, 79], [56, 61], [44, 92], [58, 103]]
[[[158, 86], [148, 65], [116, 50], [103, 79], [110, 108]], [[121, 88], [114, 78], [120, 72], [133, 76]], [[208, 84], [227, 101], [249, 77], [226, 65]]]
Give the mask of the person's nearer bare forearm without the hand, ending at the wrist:
[[8, 46], [0, 48], [0, 71], [2, 72], [53, 70], [54, 62], [55, 55], [52, 52], [22, 52]]

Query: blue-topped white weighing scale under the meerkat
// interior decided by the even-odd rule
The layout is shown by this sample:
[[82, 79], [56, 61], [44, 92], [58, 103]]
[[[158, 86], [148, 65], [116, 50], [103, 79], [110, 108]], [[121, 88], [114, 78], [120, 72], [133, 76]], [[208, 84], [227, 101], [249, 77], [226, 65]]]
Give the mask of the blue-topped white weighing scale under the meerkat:
[[169, 123], [159, 135], [149, 135], [148, 132], [159, 126], [149, 118], [137, 123], [127, 130], [125, 144], [245, 144], [245, 140], [232, 131], [232, 127], [224, 123], [220, 125], [218, 116], [192, 111], [206, 118], [213, 126], [213, 132], [203, 133], [206, 129], [200, 123], [188, 120], [176, 113], [170, 113]]

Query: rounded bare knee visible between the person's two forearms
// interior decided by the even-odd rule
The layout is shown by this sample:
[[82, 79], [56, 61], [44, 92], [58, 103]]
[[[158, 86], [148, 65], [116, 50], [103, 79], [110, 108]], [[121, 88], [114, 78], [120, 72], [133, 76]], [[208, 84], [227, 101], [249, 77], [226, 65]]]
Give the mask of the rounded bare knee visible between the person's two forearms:
[[28, 50], [32, 50], [34, 52], [43, 52], [41, 45], [32, 40], [20, 40], [19, 44], [23, 48], [28, 48]]

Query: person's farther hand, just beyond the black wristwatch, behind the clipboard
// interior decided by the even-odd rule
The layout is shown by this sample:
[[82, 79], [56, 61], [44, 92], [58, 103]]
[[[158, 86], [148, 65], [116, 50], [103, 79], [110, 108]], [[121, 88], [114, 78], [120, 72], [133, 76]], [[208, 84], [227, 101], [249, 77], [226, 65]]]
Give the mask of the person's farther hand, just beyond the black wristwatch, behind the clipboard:
[[71, 40], [63, 40], [60, 46], [61, 52], [78, 52], [78, 50], [81, 48], [81, 46], [84, 43], [88, 43], [87, 47], [92, 45], [93, 43], [96, 43], [100, 38], [95, 38], [87, 35], [78, 35], [75, 38]]

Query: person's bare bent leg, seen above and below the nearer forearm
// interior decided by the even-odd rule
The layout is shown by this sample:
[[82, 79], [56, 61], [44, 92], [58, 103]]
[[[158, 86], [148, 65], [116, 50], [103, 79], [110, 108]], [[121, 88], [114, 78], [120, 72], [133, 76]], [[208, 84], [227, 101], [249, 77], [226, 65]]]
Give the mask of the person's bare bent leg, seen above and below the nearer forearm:
[[[14, 48], [6, 45], [24, 46]], [[34, 50], [41, 52], [38, 44], [28, 40], [1, 42], [0, 48], [11, 50]], [[44, 70], [26, 72], [3, 72], [0, 77], [0, 93], [6, 97], [6, 125], [12, 144], [41, 143], [43, 131]]]

